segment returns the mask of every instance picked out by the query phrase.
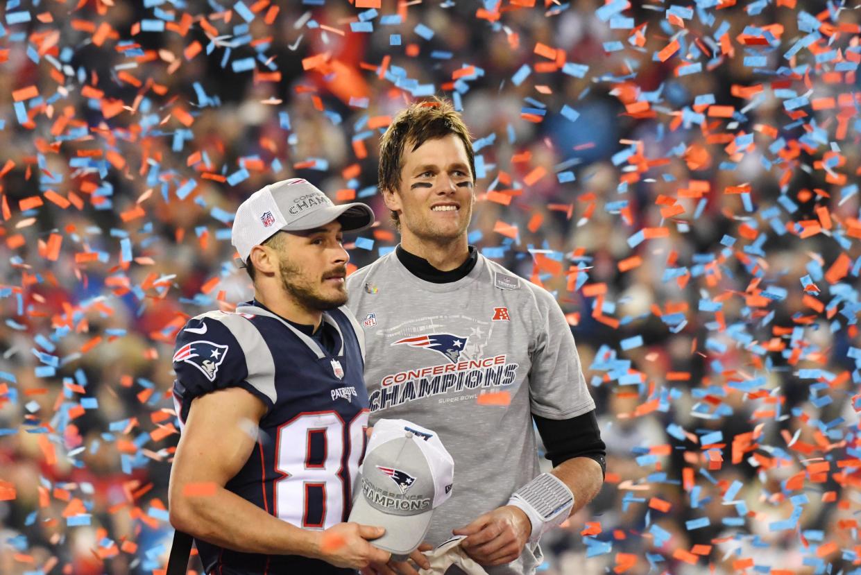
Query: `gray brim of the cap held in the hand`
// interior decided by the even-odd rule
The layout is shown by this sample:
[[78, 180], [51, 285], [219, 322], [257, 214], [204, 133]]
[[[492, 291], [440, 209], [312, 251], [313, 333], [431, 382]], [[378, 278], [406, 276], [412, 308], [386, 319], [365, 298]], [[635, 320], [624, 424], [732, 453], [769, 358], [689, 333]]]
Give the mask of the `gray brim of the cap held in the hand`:
[[431, 516], [432, 509], [418, 515], [389, 515], [371, 507], [359, 492], [350, 510], [349, 521], [386, 529], [385, 535], [370, 543], [393, 555], [409, 555], [421, 545], [428, 529], [431, 529]]

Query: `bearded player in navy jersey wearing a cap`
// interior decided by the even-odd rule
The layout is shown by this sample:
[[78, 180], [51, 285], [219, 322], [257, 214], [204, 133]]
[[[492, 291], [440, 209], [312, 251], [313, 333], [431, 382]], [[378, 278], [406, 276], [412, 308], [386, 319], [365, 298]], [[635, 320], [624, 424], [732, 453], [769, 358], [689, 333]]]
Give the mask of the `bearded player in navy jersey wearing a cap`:
[[305, 180], [258, 190], [232, 230], [254, 299], [177, 334], [170, 522], [208, 573], [343, 575], [389, 560], [369, 543], [384, 529], [345, 522], [369, 410], [342, 236], [373, 223], [368, 206], [335, 206]]

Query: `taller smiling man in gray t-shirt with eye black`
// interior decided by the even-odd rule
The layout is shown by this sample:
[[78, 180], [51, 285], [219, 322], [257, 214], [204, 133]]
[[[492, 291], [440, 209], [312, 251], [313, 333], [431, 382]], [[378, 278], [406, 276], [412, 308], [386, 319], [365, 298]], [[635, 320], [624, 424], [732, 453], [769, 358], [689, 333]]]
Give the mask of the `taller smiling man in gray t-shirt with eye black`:
[[533, 573], [538, 538], [603, 482], [604, 443], [570, 328], [546, 290], [468, 245], [474, 155], [449, 102], [398, 114], [380, 153], [401, 243], [347, 280], [365, 331], [370, 422], [424, 425], [454, 458], [452, 496], [427, 542], [466, 535], [461, 547], [492, 575]]

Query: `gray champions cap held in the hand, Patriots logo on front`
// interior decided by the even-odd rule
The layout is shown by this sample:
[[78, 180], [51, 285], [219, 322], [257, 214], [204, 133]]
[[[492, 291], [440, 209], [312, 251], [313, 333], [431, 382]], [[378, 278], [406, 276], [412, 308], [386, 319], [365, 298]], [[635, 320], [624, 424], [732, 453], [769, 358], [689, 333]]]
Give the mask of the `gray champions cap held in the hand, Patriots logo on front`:
[[406, 557], [427, 535], [433, 510], [451, 497], [454, 476], [455, 462], [435, 432], [381, 419], [360, 467], [350, 521], [386, 528], [371, 543]]

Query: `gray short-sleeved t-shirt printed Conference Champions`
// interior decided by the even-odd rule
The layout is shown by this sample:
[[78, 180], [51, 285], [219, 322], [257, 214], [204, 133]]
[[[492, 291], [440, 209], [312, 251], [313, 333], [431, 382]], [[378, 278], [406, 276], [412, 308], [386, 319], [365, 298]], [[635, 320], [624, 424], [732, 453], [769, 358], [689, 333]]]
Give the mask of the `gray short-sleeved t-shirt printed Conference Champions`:
[[[365, 332], [370, 423], [424, 425], [455, 460], [452, 496], [426, 537], [431, 545], [505, 505], [538, 475], [532, 413], [567, 419], [595, 408], [553, 296], [486, 257], [458, 281], [432, 283], [392, 251], [350, 275], [347, 290]], [[496, 392], [505, 393], [483, 397]], [[520, 575], [541, 561], [541, 550], [527, 546], [517, 561], [487, 570]]]

